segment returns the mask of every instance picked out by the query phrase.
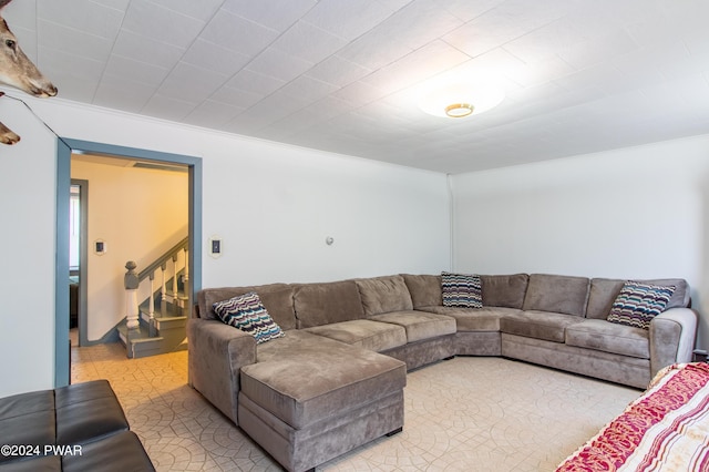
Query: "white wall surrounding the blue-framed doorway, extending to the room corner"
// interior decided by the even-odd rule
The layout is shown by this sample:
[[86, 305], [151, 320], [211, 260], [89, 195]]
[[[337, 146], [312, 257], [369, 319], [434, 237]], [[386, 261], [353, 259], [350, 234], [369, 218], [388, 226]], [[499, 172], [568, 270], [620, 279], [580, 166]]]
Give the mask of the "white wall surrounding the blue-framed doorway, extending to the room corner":
[[[203, 158], [203, 286], [332, 280], [450, 267], [445, 176], [366, 160], [27, 98], [60, 135]], [[14, 223], [0, 284], [0, 397], [49, 388], [54, 366], [55, 141], [21, 104], [3, 113], [23, 141], [0, 147]], [[91, 187], [90, 187], [91, 188]], [[91, 189], [90, 189], [91, 192]], [[224, 255], [212, 259], [218, 235]], [[325, 238], [335, 244], [327, 246]]]

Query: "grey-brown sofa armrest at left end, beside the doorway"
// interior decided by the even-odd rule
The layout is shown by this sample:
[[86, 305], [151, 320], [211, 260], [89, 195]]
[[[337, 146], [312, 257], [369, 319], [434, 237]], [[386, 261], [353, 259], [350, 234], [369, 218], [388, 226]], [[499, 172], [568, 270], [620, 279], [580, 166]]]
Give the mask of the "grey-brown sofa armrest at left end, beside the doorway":
[[240, 369], [256, 362], [256, 340], [217, 320], [187, 320], [189, 384], [238, 425]]

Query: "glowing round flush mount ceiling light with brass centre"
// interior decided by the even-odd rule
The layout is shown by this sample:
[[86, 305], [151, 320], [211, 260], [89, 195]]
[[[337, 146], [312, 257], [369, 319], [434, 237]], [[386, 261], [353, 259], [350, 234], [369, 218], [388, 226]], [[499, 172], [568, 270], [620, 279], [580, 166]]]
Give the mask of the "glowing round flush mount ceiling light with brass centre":
[[432, 84], [419, 107], [433, 116], [461, 119], [484, 113], [504, 98], [504, 90], [493, 82], [458, 81]]

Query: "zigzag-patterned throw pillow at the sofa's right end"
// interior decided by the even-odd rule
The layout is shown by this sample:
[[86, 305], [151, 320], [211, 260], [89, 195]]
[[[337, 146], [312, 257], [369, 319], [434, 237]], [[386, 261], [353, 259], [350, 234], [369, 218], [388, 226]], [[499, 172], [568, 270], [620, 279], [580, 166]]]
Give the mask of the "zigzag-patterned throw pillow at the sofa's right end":
[[665, 311], [675, 286], [627, 281], [610, 307], [608, 321], [649, 329], [653, 318]]

